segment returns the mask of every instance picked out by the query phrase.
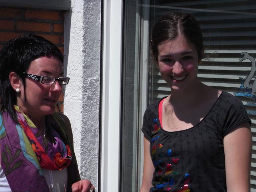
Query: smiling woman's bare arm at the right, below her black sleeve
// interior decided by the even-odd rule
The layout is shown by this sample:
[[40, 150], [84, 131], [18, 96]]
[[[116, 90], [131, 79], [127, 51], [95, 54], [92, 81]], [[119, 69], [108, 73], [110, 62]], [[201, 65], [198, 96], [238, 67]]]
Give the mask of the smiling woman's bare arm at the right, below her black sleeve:
[[250, 192], [252, 133], [248, 122], [224, 137], [227, 192]]

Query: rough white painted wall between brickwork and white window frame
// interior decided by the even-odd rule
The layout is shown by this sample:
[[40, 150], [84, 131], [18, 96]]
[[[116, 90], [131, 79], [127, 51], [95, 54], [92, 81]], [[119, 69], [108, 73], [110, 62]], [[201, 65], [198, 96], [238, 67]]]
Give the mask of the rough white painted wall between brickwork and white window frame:
[[64, 114], [72, 125], [81, 178], [98, 186], [101, 0], [72, 0], [65, 14], [64, 55], [70, 82]]

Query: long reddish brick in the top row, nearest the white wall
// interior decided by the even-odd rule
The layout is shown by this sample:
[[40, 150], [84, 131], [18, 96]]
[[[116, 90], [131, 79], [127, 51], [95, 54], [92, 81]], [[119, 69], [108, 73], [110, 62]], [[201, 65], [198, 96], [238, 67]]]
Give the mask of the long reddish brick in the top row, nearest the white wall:
[[44, 11], [44, 10], [26, 10], [26, 19], [48, 19], [59, 20], [60, 14], [56, 11]]

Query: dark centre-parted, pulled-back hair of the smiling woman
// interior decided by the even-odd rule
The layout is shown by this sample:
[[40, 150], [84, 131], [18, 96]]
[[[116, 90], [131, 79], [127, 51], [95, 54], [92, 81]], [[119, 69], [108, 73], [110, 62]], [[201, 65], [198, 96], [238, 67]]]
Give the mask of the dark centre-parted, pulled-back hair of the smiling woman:
[[204, 55], [203, 36], [197, 20], [192, 14], [174, 12], [164, 14], [153, 27], [151, 51], [156, 62], [158, 45], [164, 41], [175, 40], [180, 35], [196, 47], [198, 60], [202, 60]]

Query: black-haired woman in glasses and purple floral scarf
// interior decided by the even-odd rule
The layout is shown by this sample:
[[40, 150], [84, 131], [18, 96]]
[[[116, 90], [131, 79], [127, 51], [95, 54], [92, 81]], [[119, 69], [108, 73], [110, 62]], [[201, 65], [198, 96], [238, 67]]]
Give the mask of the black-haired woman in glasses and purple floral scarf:
[[93, 191], [80, 180], [68, 118], [55, 112], [69, 78], [48, 40], [24, 35], [0, 51], [0, 191]]

